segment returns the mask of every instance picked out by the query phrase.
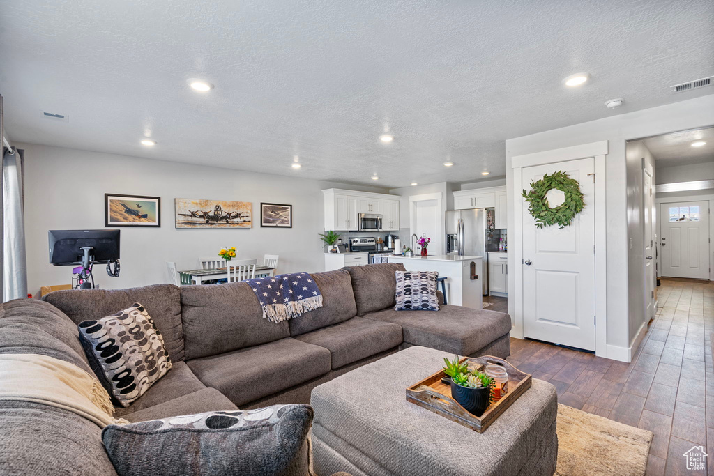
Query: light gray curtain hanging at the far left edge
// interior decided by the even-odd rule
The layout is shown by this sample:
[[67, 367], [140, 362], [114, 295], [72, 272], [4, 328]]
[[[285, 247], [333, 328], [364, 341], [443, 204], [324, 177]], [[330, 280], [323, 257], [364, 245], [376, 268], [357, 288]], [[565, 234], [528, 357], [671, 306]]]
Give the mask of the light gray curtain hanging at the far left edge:
[[5, 151], [2, 159], [3, 300], [27, 297], [23, 151]]

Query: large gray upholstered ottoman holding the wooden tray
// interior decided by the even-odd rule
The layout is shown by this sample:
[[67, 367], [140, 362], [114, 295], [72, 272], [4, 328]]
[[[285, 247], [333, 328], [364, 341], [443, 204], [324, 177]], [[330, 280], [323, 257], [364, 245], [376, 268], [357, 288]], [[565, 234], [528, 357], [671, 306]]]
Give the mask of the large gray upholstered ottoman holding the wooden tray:
[[406, 401], [405, 389], [446, 355], [412, 347], [312, 391], [319, 476], [553, 475], [558, 456], [555, 388], [533, 385], [479, 434]]

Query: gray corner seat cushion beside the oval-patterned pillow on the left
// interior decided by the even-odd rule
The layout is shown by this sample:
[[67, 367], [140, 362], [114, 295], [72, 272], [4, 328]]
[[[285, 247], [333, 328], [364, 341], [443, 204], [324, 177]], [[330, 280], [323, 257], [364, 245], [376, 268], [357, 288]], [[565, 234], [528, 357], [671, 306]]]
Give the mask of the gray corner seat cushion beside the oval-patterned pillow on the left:
[[193, 375], [193, 372], [185, 362], [176, 362], [164, 377], [154, 385], [151, 385], [151, 388], [146, 390], [146, 393], [141, 395], [138, 400], [132, 402], [129, 407], [117, 407], [115, 415], [122, 417], [127, 413], [138, 412], [139, 410], [144, 410], [144, 408], [153, 407], [204, 388], [206, 388], [206, 385], [203, 385], [201, 380], [198, 380], [198, 377]]

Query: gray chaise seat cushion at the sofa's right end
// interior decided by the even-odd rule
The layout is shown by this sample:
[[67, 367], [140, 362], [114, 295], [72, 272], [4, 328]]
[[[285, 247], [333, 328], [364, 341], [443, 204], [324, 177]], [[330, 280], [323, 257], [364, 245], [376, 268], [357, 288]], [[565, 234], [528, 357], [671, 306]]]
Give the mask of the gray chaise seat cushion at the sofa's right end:
[[456, 355], [471, 355], [511, 332], [508, 314], [458, 305], [443, 305], [438, 313], [385, 309], [365, 317], [401, 325], [405, 343]]

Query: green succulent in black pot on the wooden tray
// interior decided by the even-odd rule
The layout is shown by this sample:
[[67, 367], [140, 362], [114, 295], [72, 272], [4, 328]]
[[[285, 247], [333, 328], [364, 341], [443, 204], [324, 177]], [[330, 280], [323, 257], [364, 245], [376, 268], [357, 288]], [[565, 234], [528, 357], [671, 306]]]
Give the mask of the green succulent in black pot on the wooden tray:
[[444, 362], [446, 366], [443, 371], [451, 377], [451, 397], [473, 415], [483, 415], [493, 400], [493, 378], [469, 370], [466, 362], [458, 363], [458, 357], [454, 357], [454, 360], [444, 358]]

